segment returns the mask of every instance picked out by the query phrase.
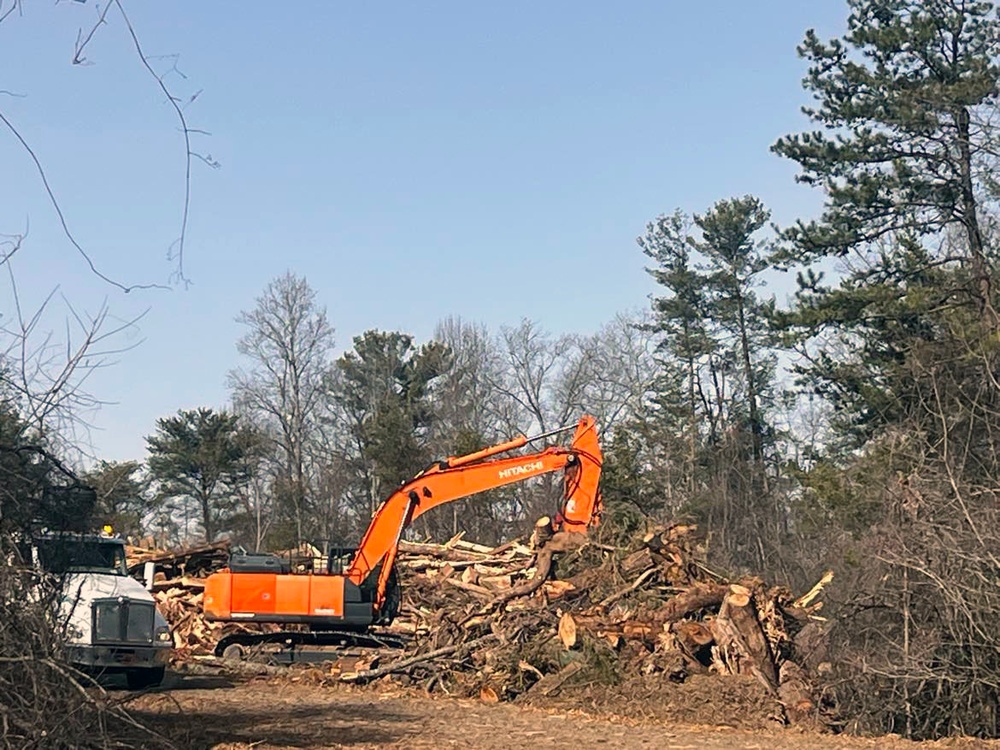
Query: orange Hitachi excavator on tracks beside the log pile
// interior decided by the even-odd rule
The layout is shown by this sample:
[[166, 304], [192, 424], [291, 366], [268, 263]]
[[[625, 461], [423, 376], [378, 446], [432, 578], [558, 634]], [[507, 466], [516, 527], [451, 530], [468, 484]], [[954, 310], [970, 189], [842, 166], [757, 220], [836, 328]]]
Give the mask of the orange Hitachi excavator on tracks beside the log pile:
[[[400, 603], [394, 572], [403, 532], [421, 515], [444, 503], [555, 471], [564, 471], [563, 497], [554, 531], [586, 533], [600, 521], [601, 448], [594, 419], [575, 425], [569, 447], [499, 457], [528, 443], [573, 430], [523, 435], [465, 456], [438, 461], [402, 484], [372, 517], [353, 553], [329, 555], [326, 570], [294, 573], [275, 555], [234, 555], [229, 566], [205, 583], [204, 610], [210, 620], [306, 625], [277, 633], [234, 633], [216, 646], [218, 656], [238, 656], [265, 643], [297, 645], [395, 645], [373, 633], [387, 625]], [[346, 568], [337, 560], [349, 560]]]

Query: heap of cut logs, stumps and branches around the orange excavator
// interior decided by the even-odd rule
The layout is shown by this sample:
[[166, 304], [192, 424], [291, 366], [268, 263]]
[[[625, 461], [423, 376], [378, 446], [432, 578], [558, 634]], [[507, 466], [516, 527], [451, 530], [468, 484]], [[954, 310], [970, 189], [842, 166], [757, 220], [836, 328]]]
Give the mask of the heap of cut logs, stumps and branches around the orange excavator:
[[[221, 635], [242, 627], [204, 621], [203, 582], [187, 572], [193, 558], [155, 559], [181, 573], [155, 586], [180, 658], [211, 653]], [[758, 681], [785, 720], [816, 715], [810, 675], [824, 666], [817, 599], [829, 576], [798, 599], [757, 578], [726, 580], [707, 566], [693, 525], [659, 527], [619, 549], [553, 533], [542, 519], [530, 539], [498, 547], [461, 535], [403, 541], [397, 568], [402, 606], [383, 631], [410, 645], [362, 661], [365, 668], [331, 669], [334, 679], [392, 675], [428, 690], [513, 700], [632, 677], [682, 683], [738, 674]]]

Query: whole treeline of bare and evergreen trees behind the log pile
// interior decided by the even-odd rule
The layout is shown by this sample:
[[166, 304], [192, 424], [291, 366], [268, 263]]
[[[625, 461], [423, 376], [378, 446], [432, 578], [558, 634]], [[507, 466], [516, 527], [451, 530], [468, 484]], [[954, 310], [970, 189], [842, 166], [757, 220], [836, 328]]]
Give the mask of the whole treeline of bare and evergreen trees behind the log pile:
[[[720, 569], [835, 571], [830, 689], [855, 728], [1000, 734], [1000, 20], [977, 0], [847, 4], [842, 37], [799, 48], [809, 129], [772, 147], [821, 193], [816, 217], [777, 227], [743, 195], [652, 218], [634, 251], [651, 305], [597, 332], [450, 318], [338, 355], [311, 282], [276, 278], [239, 313], [230, 403], [179, 404], [145, 462], [87, 472], [101, 516], [174, 542], [350, 545], [431, 460], [590, 413], [607, 533], [685, 517]], [[0, 435], [44, 442], [49, 414], [10, 382]], [[509, 538], [556, 485], [414, 532]]]

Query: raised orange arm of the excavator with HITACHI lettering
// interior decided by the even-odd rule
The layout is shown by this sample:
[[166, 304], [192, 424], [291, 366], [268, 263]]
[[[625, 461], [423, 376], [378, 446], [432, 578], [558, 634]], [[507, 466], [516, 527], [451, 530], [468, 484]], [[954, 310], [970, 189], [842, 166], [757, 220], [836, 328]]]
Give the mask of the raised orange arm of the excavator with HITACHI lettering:
[[[554, 432], [568, 429], [573, 428]], [[466, 456], [453, 456], [400, 486], [372, 517], [347, 568], [347, 578], [360, 586], [382, 563], [375, 598], [376, 611], [381, 609], [399, 541], [417, 518], [439, 505], [560, 469], [566, 474], [556, 530], [586, 532], [596, 526], [602, 510], [598, 491], [602, 455], [593, 417], [580, 419], [568, 448], [553, 446], [537, 453], [493, 458], [554, 432], [535, 438], [521, 436]]]

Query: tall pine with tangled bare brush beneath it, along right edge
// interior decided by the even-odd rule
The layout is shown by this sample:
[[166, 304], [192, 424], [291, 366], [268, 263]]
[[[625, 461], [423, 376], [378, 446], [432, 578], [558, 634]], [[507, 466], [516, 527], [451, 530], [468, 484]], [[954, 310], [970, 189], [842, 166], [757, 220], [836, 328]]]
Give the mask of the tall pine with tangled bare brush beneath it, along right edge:
[[843, 39], [809, 32], [800, 49], [821, 130], [774, 146], [826, 197], [782, 259], [837, 257], [843, 274], [804, 268], [777, 316], [841, 438], [798, 467], [796, 524], [845, 574], [831, 645], [859, 726], [995, 736], [1000, 319], [983, 202], [1000, 22], [981, 0], [848, 5]]

